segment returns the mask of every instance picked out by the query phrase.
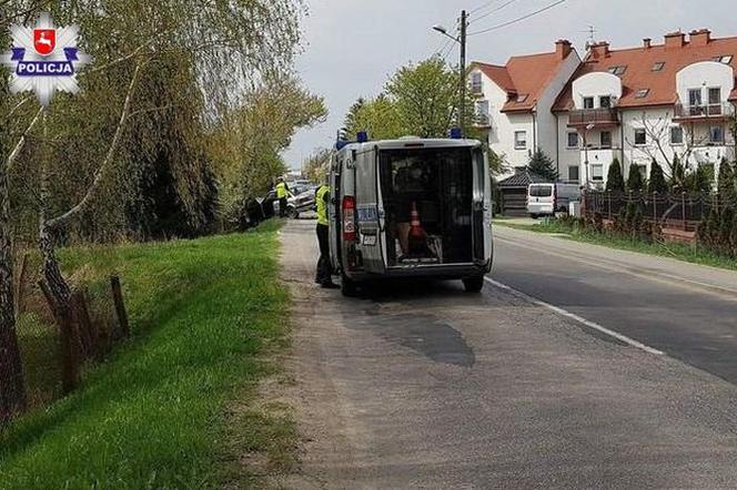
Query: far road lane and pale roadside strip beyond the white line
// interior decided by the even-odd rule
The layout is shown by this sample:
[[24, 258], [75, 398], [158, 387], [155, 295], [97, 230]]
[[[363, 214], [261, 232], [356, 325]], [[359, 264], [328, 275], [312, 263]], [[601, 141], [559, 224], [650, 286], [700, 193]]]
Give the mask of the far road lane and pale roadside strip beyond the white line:
[[737, 273], [497, 226], [492, 277], [737, 384]]

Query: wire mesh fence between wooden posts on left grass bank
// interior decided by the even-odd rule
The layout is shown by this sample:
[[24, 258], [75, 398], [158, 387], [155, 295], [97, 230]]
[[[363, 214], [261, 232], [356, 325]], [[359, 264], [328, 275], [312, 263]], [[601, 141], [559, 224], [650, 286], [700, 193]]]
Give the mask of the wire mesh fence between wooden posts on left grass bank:
[[[38, 262], [33, 253], [21, 252], [14, 269], [16, 333], [29, 409], [75, 389], [84, 366], [103, 359], [115, 340], [130, 334], [118, 277], [72, 276], [71, 299], [59, 305], [40, 277]], [[0, 369], [0, 386], [9, 386], [14, 376]]]

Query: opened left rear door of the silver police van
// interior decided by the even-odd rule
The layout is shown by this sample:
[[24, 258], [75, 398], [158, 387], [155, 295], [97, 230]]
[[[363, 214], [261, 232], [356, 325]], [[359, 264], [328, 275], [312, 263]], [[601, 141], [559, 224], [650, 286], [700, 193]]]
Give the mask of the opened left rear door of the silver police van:
[[355, 182], [357, 239], [363, 267], [368, 273], [383, 274], [386, 272], [386, 239], [376, 146], [356, 154]]

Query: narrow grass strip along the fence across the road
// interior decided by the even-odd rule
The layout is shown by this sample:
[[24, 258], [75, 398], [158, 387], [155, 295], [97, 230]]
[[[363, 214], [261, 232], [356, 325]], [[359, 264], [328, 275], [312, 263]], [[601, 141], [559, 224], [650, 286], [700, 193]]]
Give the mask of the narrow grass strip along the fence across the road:
[[588, 229], [574, 228], [568, 224], [561, 223], [555, 220], [551, 221], [549, 223], [537, 223], [529, 225], [513, 223], [498, 223], [498, 225], [535, 233], [564, 234], [565, 236], [563, 236], [563, 238], [574, 242], [589, 243], [623, 251], [639, 252], [642, 254], [676, 258], [684, 262], [690, 262], [693, 264], [737, 270], [737, 259], [718, 255], [703, 247], [688, 244], [645, 242], [643, 239], [622, 236], [613, 233], [597, 233]]

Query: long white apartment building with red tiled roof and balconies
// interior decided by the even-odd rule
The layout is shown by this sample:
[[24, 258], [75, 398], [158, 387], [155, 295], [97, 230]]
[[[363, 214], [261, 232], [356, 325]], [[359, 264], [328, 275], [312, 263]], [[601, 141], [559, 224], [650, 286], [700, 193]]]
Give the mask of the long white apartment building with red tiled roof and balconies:
[[[523, 125], [519, 114], [534, 121], [528, 123], [528, 150], [543, 149], [556, 162], [562, 181], [586, 187], [606, 184], [615, 157], [625, 176], [633, 165], [649, 176], [653, 159], [667, 173], [674, 155], [691, 169], [708, 165], [716, 175], [723, 159], [735, 157], [730, 121], [737, 103], [737, 37], [714, 38], [701, 29], [666, 34], [663, 43], [645, 39], [637, 48], [594, 43], [562, 84], [551, 76], [556, 69], [535, 62], [541, 60], [515, 67], [529, 58], [535, 60], [513, 57], [506, 67], [477, 63], [472, 71], [472, 86], [477, 82], [474, 72], [481, 71], [489, 85], [508, 94], [495, 111], [498, 96], [484, 91], [477, 112], [484, 122], [484, 100], [489, 100], [489, 146], [504, 153], [511, 166], [523, 162], [515, 145], [517, 126]], [[522, 91], [536, 102], [515, 99]], [[542, 102], [552, 91], [555, 100], [548, 106]]]

